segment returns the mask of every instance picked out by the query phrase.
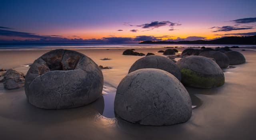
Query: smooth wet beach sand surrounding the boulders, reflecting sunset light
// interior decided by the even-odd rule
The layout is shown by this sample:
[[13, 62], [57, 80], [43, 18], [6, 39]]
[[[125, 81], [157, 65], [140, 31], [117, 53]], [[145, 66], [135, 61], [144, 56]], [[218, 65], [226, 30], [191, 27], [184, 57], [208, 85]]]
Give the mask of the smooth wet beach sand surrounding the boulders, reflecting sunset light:
[[[136, 48], [152, 52], [167, 48]], [[178, 48], [182, 52], [184, 48]], [[0, 83], [0, 137], [2, 140], [44, 139], [188, 139], [188, 140], [254, 140], [256, 134], [256, 51], [241, 51], [246, 63], [225, 69], [224, 86], [212, 89], [186, 87], [192, 98], [192, 117], [172, 126], [140, 126], [113, 116], [114, 89], [142, 56], [124, 56], [125, 49], [76, 50], [92, 58], [102, 70], [106, 93], [92, 104], [68, 110], [43, 110], [26, 101], [24, 88], [5, 90]], [[0, 52], [0, 68], [26, 71], [47, 50]], [[178, 53], [180, 54], [180, 53]], [[100, 60], [111, 58], [111, 60]], [[178, 58], [176, 58], [178, 60]], [[102, 114], [104, 116], [102, 116]], [[107, 118], [108, 117], [108, 118]]]

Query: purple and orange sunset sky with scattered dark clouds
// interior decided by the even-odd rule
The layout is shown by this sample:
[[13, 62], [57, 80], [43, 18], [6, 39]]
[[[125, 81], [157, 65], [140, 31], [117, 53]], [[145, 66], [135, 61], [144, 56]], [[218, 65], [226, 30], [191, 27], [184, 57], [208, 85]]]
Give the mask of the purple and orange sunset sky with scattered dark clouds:
[[256, 35], [256, 0], [0, 0], [0, 43], [138, 43]]

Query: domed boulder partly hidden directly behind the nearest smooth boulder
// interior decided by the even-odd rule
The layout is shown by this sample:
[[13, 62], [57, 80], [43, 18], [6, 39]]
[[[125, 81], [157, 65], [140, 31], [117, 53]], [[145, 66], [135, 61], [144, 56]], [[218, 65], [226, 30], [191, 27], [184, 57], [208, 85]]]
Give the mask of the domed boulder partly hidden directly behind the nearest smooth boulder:
[[165, 70], [166, 72], [173, 74], [178, 80], [181, 80], [181, 73], [178, 66], [172, 60], [164, 56], [152, 55], [140, 58], [132, 64], [128, 73], [142, 68]]

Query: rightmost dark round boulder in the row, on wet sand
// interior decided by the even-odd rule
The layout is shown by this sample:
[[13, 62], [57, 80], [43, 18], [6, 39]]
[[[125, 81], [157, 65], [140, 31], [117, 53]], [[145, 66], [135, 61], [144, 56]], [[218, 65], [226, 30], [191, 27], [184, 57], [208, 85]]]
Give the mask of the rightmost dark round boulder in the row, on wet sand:
[[225, 53], [228, 56], [230, 65], [238, 65], [245, 63], [244, 55], [237, 51], [229, 51]]

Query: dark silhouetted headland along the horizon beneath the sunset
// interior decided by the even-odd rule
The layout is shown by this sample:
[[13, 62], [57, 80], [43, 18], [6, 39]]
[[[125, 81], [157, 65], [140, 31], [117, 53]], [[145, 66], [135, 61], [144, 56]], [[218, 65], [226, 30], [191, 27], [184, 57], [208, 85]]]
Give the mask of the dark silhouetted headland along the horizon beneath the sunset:
[[143, 41], [140, 44], [244, 44], [244, 45], [255, 45], [256, 36], [247, 36], [247, 37], [224, 37], [215, 40], [196, 40], [196, 41]]

